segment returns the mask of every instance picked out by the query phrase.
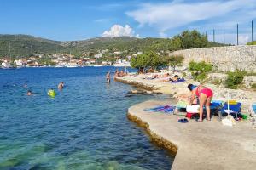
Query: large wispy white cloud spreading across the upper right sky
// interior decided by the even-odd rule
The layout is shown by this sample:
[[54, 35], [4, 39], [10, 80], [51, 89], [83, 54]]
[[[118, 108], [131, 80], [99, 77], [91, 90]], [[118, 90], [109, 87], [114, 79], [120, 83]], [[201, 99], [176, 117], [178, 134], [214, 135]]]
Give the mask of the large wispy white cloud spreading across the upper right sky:
[[137, 10], [126, 14], [140, 26], [154, 26], [160, 34], [164, 34], [167, 30], [201, 20], [210, 23], [252, 20], [256, 15], [256, 3], [255, 0], [143, 3]]

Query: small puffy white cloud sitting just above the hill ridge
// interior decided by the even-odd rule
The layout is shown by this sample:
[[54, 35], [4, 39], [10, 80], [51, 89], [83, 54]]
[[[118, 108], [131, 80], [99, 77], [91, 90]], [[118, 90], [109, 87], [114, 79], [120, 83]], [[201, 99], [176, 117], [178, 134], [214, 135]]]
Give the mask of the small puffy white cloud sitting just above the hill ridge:
[[120, 26], [113, 25], [109, 31], [104, 31], [103, 37], [139, 37], [135, 35], [135, 31], [129, 25]]

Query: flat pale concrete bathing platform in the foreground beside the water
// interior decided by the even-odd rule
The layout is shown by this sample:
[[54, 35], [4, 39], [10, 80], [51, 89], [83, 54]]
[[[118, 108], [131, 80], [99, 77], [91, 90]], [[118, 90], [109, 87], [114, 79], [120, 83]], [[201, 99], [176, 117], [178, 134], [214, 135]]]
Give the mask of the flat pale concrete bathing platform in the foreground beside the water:
[[158, 143], [176, 152], [172, 170], [256, 168], [256, 131], [249, 123], [225, 127], [214, 117], [210, 122], [180, 123], [177, 120], [183, 116], [143, 111], [170, 103], [149, 100], [131, 106], [128, 117], [145, 127]]

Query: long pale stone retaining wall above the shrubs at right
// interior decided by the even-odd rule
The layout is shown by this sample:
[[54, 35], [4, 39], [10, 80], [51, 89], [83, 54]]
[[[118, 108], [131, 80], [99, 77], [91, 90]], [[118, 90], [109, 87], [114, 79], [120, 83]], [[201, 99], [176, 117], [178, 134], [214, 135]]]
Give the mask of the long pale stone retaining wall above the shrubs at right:
[[212, 63], [220, 71], [236, 69], [256, 72], [256, 45], [229, 46], [216, 48], [194, 48], [175, 51], [172, 54], [182, 54], [184, 64], [191, 60]]

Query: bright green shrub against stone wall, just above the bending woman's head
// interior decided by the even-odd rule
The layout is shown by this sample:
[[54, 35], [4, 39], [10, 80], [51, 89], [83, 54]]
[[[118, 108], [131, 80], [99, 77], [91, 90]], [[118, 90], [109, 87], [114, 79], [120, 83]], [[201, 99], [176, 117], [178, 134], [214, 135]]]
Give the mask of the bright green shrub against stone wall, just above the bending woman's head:
[[212, 71], [212, 65], [207, 64], [205, 61], [196, 63], [191, 61], [189, 63], [189, 71], [192, 73], [192, 77], [195, 81], [203, 81], [207, 78], [207, 73]]

